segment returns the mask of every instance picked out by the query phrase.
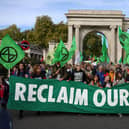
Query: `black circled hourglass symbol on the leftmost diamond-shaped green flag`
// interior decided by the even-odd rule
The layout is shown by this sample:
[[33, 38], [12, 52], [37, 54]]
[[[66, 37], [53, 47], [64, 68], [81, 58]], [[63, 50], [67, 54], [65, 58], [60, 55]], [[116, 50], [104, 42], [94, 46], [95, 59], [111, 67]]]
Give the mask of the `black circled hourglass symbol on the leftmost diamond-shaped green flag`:
[[6, 63], [13, 63], [17, 59], [17, 51], [13, 47], [5, 47], [0, 52], [0, 58]]

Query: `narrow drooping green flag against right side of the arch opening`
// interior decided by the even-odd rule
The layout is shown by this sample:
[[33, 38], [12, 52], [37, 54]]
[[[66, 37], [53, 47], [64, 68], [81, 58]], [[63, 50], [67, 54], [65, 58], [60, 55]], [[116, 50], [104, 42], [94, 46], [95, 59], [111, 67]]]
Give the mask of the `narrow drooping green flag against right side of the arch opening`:
[[100, 57], [100, 62], [107, 62], [107, 63], [110, 62], [109, 57], [108, 57], [108, 51], [107, 51], [105, 36], [104, 36], [103, 44], [102, 44], [102, 56]]

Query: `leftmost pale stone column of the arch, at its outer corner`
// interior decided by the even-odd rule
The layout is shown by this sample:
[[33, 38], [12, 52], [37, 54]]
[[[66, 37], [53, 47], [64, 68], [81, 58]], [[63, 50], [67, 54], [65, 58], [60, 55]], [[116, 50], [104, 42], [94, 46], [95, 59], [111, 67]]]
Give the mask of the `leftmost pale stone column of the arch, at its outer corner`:
[[73, 40], [73, 25], [68, 25], [68, 47], [71, 47]]

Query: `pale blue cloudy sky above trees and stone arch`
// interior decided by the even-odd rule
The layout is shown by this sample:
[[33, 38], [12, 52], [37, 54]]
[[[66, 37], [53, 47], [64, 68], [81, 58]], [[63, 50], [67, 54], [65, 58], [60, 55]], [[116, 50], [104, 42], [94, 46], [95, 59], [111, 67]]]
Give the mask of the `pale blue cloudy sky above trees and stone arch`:
[[69, 9], [122, 10], [129, 17], [129, 0], [0, 0], [0, 29], [12, 24], [21, 31], [31, 29], [42, 15], [66, 22]]

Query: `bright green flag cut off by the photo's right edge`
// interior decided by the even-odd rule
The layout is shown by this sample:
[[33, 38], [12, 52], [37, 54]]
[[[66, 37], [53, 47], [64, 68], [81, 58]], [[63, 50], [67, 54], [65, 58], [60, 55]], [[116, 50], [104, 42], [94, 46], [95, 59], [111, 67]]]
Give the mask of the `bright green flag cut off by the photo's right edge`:
[[129, 64], [129, 33], [123, 32], [119, 26], [119, 40], [120, 44], [125, 50], [124, 64]]

